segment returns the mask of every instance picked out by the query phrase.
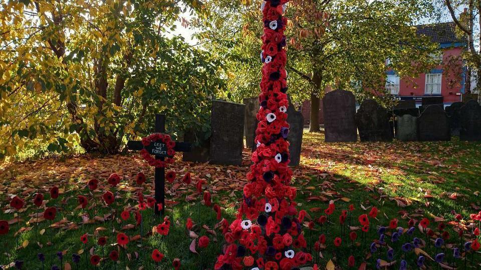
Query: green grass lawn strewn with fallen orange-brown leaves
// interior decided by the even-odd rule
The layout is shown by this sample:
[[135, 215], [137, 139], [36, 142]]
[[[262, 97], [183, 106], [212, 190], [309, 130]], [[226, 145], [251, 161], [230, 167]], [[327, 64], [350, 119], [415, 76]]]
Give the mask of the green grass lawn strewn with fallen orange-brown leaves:
[[[392, 143], [332, 143], [323, 142], [322, 134], [304, 134], [303, 155], [301, 166], [294, 169], [293, 184], [298, 187], [298, 199], [300, 209], [307, 210], [312, 219], [317, 219], [324, 214], [330, 200], [335, 200], [336, 211], [333, 214], [333, 224], [329, 229], [325, 225], [323, 232], [327, 236], [326, 249], [321, 251], [322, 257], [314, 258], [318, 260], [321, 268], [324, 268], [329, 259], [341, 268], [347, 268], [347, 257], [350, 254], [356, 255], [356, 265], [361, 260], [366, 259], [369, 263], [368, 268], [372, 267], [373, 259], [369, 258], [368, 245], [378, 235], [374, 229], [365, 235], [363, 244], [358, 238], [357, 244], [351, 246], [346, 234], [343, 236], [343, 245], [339, 249], [332, 248], [334, 237], [341, 236], [341, 229], [338, 224], [338, 217], [342, 209], [347, 209], [349, 204], [354, 204], [356, 210], [352, 212], [352, 225], [357, 226], [357, 216], [367, 213], [372, 206], [379, 208], [378, 220], [376, 224], [387, 225], [392, 218], [399, 219], [400, 226], [406, 226], [409, 218], [420, 219], [422, 216], [429, 217], [431, 226], [435, 227], [434, 217], [452, 220], [454, 213], [460, 213], [467, 217], [469, 213], [477, 212], [478, 205], [481, 205], [478, 197], [478, 176], [481, 175], [481, 147], [478, 143], [468, 143], [458, 140], [451, 142], [392, 142]], [[245, 173], [248, 170], [249, 151], [245, 151], [244, 166], [219, 166], [209, 164], [190, 164], [177, 160], [173, 169], [178, 175], [185, 171], [191, 171], [197, 178], [205, 179], [205, 185], [211, 193], [214, 203], [223, 207], [222, 216], [232, 221], [239, 202], [242, 199], [242, 187], [245, 183]], [[65, 251], [63, 262], [69, 262], [73, 269], [76, 264], [72, 263], [72, 254], [83, 252], [79, 263], [79, 269], [93, 268], [85, 260], [85, 253], [99, 254], [102, 256], [102, 248], [97, 246], [96, 238], [108, 236], [109, 244], [112, 228], [111, 219], [105, 222], [82, 223], [80, 209], [76, 209], [77, 195], [88, 193], [85, 187], [86, 182], [91, 177], [97, 177], [101, 182], [106, 182], [106, 177], [111, 172], [118, 172], [124, 175], [121, 186], [117, 188], [119, 196], [117, 202], [119, 209], [122, 206], [133, 207], [137, 204], [135, 193], [136, 187], [132, 184], [134, 175], [139, 170], [144, 170], [148, 178], [152, 178], [152, 169], [142, 160], [130, 156], [110, 156], [92, 157], [87, 155], [67, 158], [66, 160], [41, 159], [27, 161], [23, 163], [6, 163], [2, 165], [3, 171], [0, 173], [2, 185], [0, 192], [3, 196], [2, 214], [0, 219], [15, 221], [14, 214], [9, 212], [8, 196], [19, 194], [26, 199], [27, 208], [20, 213], [21, 224], [24, 227], [16, 242], [14, 232], [17, 230], [17, 223], [11, 224], [11, 231], [8, 235], [1, 235], [2, 253], [0, 263], [8, 264], [16, 259], [24, 261], [24, 269], [42, 269], [42, 264], [37, 258], [37, 254], [42, 252], [46, 256], [45, 269], [50, 269], [50, 254], [54, 253], [53, 264], [60, 266], [60, 260], [55, 255], [58, 251]], [[194, 178], [195, 178], [194, 177]], [[180, 178], [180, 176], [177, 176]], [[195, 182], [195, 181], [194, 181]], [[47, 195], [52, 185], [59, 185], [65, 189], [65, 193], [60, 199], [49, 200]], [[168, 185], [169, 186], [169, 185]], [[144, 186], [144, 193], [152, 193], [152, 183]], [[190, 185], [189, 192], [195, 189]], [[25, 223], [35, 216], [37, 209], [32, 204], [33, 195], [40, 190], [46, 194], [47, 205], [58, 205], [61, 208], [61, 217], [65, 217], [63, 228], [55, 227], [52, 229], [52, 242], [50, 241], [50, 229], [47, 221], [42, 221], [37, 227], [36, 223]], [[170, 190], [167, 191], [167, 199], [170, 199]], [[160, 269], [172, 268], [172, 260], [179, 258], [182, 269], [212, 268], [217, 254], [220, 253], [222, 237], [220, 231], [210, 230], [214, 224], [215, 212], [204, 206], [200, 206], [197, 197], [192, 197], [189, 204], [185, 203], [186, 188], [183, 184], [176, 184], [173, 189], [174, 198], [179, 204], [170, 209], [167, 206], [167, 214], [171, 216], [172, 225], [168, 236], [158, 234], [150, 236], [152, 226], [162, 222], [160, 217], [152, 215], [152, 210], [147, 209], [143, 212], [143, 249], [140, 240], [135, 240], [128, 244], [126, 252], [127, 266], [130, 269], [138, 269], [140, 265], [144, 268], [154, 269], [155, 264], [150, 258], [154, 248], [161, 250], [165, 257], [159, 265]], [[96, 193], [100, 196], [102, 192]], [[92, 201], [90, 201], [92, 204]], [[112, 211], [109, 207], [98, 206], [88, 210], [89, 215], [93, 216], [94, 211], [97, 216], [107, 216]], [[120, 206], [122, 205], [122, 206]], [[365, 209], [363, 209], [363, 207]], [[200, 212], [200, 214], [199, 214]], [[31, 215], [31, 216], [28, 216]], [[191, 217], [196, 223], [193, 229], [195, 234], [208, 235], [211, 242], [205, 249], [197, 248], [200, 254], [189, 251], [189, 245], [193, 238], [187, 235], [185, 221]], [[309, 219], [309, 217], [308, 217]], [[140, 233], [139, 227], [122, 229], [126, 224], [134, 224], [135, 220], [131, 217], [127, 221], [121, 222], [116, 219], [114, 222], [117, 231], [123, 231], [131, 237]], [[205, 224], [205, 226], [203, 226]], [[41, 232], [45, 229], [43, 235]], [[316, 224], [310, 231], [304, 229], [305, 238], [313, 244], [320, 233], [321, 227]], [[62, 231], [62, 232], [60, 232]], [[452, 235], [451, 243], [462, 242], [456, 238], [455, 232], [448, 229]], [[348, 233], [347, 230], [346, 233]], [[359, 237], [361, 232], [357, 230]], [[84, 233], [89, 234], [87, 249], [83, 249], [80, 236]], [[214, 235], [213, 233], [216, 233]], [[417, 231], [418, 237], [423, 235]], [[114, 236], [116, 233], [114, 234]], [[388, 236], [386, 236], [388, 237]], [[16, 250], [17, 244], [29, 243], [25, 247]], [[403, 239], [407, 240], [407, 239]], [[38, 243], [37, 243], [38, 242]], [[116, 241], [114, 241], [116, 242]], [[361, 245], [361, 246], [359, 246]], [[104, 247], [107, 259], [98, 268], [113, 269], [113, 262], [108, 259], [108, 252], [112, 249], [120, 250], [120, 259], [116, 268], [124, 269], [123, 249], [118, 245], [106, 245]], [[8, 250], [9, 256], [5, 255]], [[381, 254], [376, 252], [376, 258], [385, 258], [386, 248], [379, 249]], [[431, 256], [436, 251], [432, 246], [428, 250]], [[313, 250], [314, 253], [314, 250]], [[447, 250], [447, 261], [452, 259], [452, 252]], [[413, 260], [414, 254], [395, 252], [398, 268], [401, 258]], [[416, 256], [417, 257], [417, 256]], [[474, 263], [479, 263], [479, 258], [474, 256]], [[469, 264], [469, 263], [468, 263]], [[203, 266], [201, 266], [203, 265]], [[433, 264], [431, 264], [432, 266]]]

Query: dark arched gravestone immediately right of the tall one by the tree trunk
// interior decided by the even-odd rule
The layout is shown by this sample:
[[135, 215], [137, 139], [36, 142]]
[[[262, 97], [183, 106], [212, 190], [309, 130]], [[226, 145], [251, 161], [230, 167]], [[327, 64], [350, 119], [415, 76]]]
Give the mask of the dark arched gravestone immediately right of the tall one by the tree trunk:
[[356, 112], [356, 124], [361, 141], [392, 141], [389, 114], [373, 99], [362, 102]]

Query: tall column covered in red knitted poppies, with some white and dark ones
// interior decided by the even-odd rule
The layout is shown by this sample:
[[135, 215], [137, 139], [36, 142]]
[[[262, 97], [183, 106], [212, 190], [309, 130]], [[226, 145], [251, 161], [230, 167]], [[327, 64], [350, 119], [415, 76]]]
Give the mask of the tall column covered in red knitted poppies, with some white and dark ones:
[[[257, 149], [252, 154], [244, 201], [231, 224], [224, 225], [228, 242], [217, 257], [215, 269], [291, 270], [312, 260], [302, 251], [305, 211], [298, 212], [296, 188], [290, 186], [287, 73], [285, 70], [288, 0], [267, 0], [261, 5], [264, 35], [261, 60], [261, 108], [257, 113]], [[254, 257], [244, 259], [247, 250]], [[247, 262], [247, 263], [246, 263]]]

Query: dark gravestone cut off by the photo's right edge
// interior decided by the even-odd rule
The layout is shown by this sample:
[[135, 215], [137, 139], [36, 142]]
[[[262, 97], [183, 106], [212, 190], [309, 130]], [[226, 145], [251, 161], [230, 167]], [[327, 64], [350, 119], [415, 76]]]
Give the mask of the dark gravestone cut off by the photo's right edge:
[[459, 139], [481, 140], [481, 106], [475, 100], [469, 100], [461, 107]]

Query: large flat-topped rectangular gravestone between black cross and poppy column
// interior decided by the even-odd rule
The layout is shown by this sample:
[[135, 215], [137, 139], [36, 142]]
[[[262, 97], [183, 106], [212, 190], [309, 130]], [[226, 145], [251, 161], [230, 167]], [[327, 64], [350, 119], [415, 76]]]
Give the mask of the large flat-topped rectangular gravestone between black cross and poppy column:
[[210, 116], [210, 163], [242, 164], [244, 104], [212, 100]]

